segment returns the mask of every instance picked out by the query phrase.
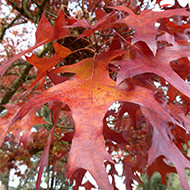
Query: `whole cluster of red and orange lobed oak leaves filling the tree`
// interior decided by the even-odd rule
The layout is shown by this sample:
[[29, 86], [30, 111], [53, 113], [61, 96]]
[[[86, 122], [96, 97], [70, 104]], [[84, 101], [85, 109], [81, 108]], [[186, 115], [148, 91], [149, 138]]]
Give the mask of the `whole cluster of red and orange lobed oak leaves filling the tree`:
[[[81, 1], [75, 17], [60, 10], [56, 20], [44, 12], [34, 46], [1, 63], [3, 75], [41, 45], [54, 52], [26, 56], [37, 69], [35, 80], [20, 95], [21, 102], [5, 105], [8, 111], [0, 119], [0, 144], [9, 134], [29, 154], [35, 149], [33, 126], [45, 128], [35, 133], [38, 141], [46, 141], [37, 145], [44, 151], [36, 189], [48, 158], [57, 168], [68, 151], [73, 189], [94, 187], [83, 183], [86, 171], [100, 189], [117, 189], [115, 163], [123, 165], [126, 189], [132, 189], [134, 180], [141, 183], [140, 174], [150, 177], [156, 171], [164, 184], [169, 173], [178, 173], [182, 188], [189, 189], [185, 169], [190, 162], [183, 146], [190, 139], [190, 12], [177, 1], [160, 5], [159, 11], [132, 2]], [[111, 106], [114, 102], [118, 106]], [[42, 115], [51, 119], [39, 117], [44, 106], [50, 111]]]

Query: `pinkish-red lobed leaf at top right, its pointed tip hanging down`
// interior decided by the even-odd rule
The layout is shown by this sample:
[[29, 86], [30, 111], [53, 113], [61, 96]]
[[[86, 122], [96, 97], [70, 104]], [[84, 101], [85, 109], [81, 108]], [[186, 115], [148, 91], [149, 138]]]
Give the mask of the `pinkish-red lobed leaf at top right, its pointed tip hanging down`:
[[185, 9], [175, 9], [168, 11], [152, 11], [151, 9], [144, 10], [136, 15], [131, 9], [124, 6], [112, 7], [118, 11], [127, 12], [129, 15], [124, 19], [118, 20], [116, 23], [124, 23], [135, 30], [132, 44], [138, 41], [144, 41], [147, 43], [154, 56], [157, 51], [156, 35], [158, 30], [155, 29], [155, 22], [164, 17], [171, 17], [174, 15], [190, 16], [190, 12]]

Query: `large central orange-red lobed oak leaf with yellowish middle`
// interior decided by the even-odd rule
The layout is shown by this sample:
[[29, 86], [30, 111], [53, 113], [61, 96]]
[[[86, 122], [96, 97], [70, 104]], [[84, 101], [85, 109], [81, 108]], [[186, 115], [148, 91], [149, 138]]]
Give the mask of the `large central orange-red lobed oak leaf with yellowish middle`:
[[137, 86], [126, 91], [115, 87], [116, 83], [109, 78], [107, 66], [118, 55], [121, 55], [121, 51], [112, 51], [103, 53], [94, 60], [91, 58], [82, 60], [76, 63], [75, 67], [68, 65], [55, 69], [56, 72], [74, 72], [76, 76], [28, 101], [13, 119], [14, 123], [33, 106], [42, 105], [50, 100], [67, 103], [75, 122], [67, 176], [79, 168], [84, 168], [91, 173], [102, 189], [105, 187], [112, 189], [103, 167], [105, 160], [112, 162], [105, 150], [102, 135], [103, 117], [109, 106], [118, 100], [129, 101], [151, 109], [156, 108], [161, 114], [167, 114], [154, 100], [151, 90]]

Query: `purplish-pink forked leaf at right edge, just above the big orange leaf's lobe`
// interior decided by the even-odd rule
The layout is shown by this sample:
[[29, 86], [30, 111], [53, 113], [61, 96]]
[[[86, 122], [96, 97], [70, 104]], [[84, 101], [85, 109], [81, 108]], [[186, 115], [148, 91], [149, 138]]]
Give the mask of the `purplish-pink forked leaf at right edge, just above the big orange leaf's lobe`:
[[154, 73], [163, 77], [181, 93], [190, 97], [189, 84], [180, 78], [179, 75], [173, 71], [170, 65], [170, 61], [172, 60], [189, 56], [189, 47], [172, 46], [159, 49], [157, 57], [154, 57], [145, 43], [136, 43], [135, 47], [139, 48], [136, 59], [125, 60], [117, 63], [121, 66], [121, 70], [119, 71], [117, 78], [117, 84], [127, 77], [133, 77], [142, 73]]

